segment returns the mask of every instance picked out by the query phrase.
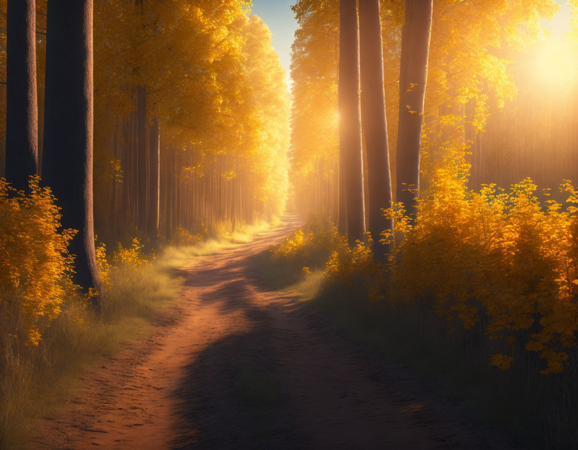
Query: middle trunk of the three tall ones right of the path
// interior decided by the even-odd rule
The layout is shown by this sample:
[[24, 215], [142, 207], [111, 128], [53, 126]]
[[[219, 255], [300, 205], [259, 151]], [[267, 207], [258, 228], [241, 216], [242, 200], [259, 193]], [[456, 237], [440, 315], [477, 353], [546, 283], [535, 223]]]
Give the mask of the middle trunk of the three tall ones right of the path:
[[373, 256], [383, 262], [390, 246], [380, 244], [381, 232], [393, 230], [394, 224], [382, 212], [391, 208], [392, 196], [380, 17], [379, 0], [360, 1], [361, 118], [368, 168], [369, 233]]

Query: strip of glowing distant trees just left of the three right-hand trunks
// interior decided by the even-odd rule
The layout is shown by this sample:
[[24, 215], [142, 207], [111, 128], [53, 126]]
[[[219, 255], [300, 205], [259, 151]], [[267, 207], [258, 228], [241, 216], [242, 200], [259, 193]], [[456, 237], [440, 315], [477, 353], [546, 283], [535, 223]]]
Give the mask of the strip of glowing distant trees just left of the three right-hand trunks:
[[[312, 13], [314, 8], [314, 13]], [[339, 177], [339, 2], [295, 2], [292, 45], [291, 179], [303, 213], [331, 216], [347, 232]]]

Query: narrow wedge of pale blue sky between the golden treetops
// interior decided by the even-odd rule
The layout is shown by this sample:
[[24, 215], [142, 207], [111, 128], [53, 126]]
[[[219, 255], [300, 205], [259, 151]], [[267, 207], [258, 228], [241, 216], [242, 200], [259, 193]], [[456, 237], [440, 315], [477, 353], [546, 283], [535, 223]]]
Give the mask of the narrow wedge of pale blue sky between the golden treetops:
[[273, 47], [279, 54], [281, 64], [290, 82], [291, 44], [295, 38], [297, 20], [291, 11], [295, 0], [253, 0], [253, 14], [261, 17], [273, 34]]

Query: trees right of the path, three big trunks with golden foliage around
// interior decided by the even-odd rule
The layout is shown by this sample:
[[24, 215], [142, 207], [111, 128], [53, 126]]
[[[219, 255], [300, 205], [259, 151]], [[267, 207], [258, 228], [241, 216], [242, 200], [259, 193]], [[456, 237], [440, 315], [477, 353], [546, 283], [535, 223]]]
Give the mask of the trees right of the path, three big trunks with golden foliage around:
[[[377, 222], [385, 220], [381, 209], [387, 208], [391, 197], [413, 216], [420, 184], [431, 182], [428, 175], [436, 164], [464, 157], [470, 164], [475, 163], [490, 110], [494, 105], [503, 108], [516, 93], [514, 78], [507, 69], [509, 58], [542, 39], [540, 18], [551, 17], [557, 5], [551, 0], [524, 5], [361, 0], [356, 12], [355, 3], [342, 2], [340, 10], [333, 3], [317, 0], [298, 1], [294, 6], [300, 27], [292, 60], [295, 103], [291, 175], [295, 191], [303, 199], [299, 204], [302, 211], [331, 215], [342, 232], [347, 223], [350, 241], [367, 226], [377, 246], [379, 232], [391, 227], [391, 223]], [[380, 13], [376, 14], [379, 6]], [[371, 25], [368, 9], [373, 17], [381, 18], [381, 29]], [[357, 18], [361, 70], [351, 42]], [[375, 82], [379, 73], [370, 63], [370, 49], [375, 52], [379, 48], [377, 39], [372, 41], [371, 36], [379, 31], [384, 49], [383, 84]], [[349, 33], [349, 38], [341, 36], [339, 41], [343, 32]], [[342, 65], [347, 65], [351, 73], [357, 70], [361, 83], [356, 83], [355, 77], [343, 79]], [[353, 104], [355, 108], [361, 105], [361, 121], [351, 109], [351, 102], [349, 112], [343, 111], [344, 89], [357, 97]], [[310, 117], [312, 109], [317, 114], [307, 122], [305, 117]], [[385, 116], [387, 129], [382, 125]], [[379, 135], [373, 122], [380, 124]], [[314, 137], [315, 128], [323, 130], [319, 133], [323, 142]], [[354, 145], [343, 141], [347, 130], [355, 134]], [[397, 151], [388, 152], [386, 142]], [[351, 152], [355, 164], [345, 156]], [[392, 196], [384, 187], [389, 174], [387, 153], [392, 167]], [[344, 170], [337, 177], [340, 164]], [[351, 176], [354, 181], [349, 180]], [[479, 186], [482, 181], [478, 177], [470, 185]], [[387, 249], [379, 250], [379, 255], [384, 251]]]

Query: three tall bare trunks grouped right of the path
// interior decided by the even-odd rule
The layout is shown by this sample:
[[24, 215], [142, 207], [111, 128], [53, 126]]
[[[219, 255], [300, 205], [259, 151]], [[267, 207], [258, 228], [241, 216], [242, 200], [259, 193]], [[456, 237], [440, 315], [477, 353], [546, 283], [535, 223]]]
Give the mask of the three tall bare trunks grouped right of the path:
[[[406, 1], [399, 75], [398, 198], [415, 215], [433, 1]], [[393, 231], [383, 210], [392, 206], [379, 0], [342, 0], [339, 56], [339, 181], [345, 186], [350, 245], [365, 234], [363, 144], [367, 161], [368, 231], [376, 259], [389, 253], [382, 231]], [[360, 83], [361, 73], [361, 83]], [[361, 94], [360, 94], [361, 93]], [[362, 132], [363, 128], [363, 132]], [[363, 135], [363, 136], [362, 136]]]

